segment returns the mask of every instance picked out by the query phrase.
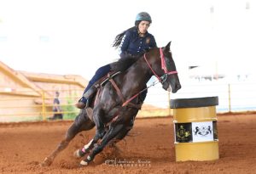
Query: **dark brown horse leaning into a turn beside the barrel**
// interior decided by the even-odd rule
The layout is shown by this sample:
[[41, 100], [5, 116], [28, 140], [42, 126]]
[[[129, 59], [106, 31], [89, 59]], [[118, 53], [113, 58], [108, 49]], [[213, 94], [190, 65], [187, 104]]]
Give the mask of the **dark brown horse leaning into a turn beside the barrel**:
[[127, 70], [114, 76], [101, 87], [94, 98], [94, 103], [90, 106], [93, 108], [92, 115], [88, 115], [88, 110], [81, 109], [72, 126], [68, 128], [66, 137], [41, 165], [51, 165], [56, 155], [66, 149], [68, 143], [79, 132], [90, 130], [94, 126], [96, 126], [95, 137], [83, 149], [74, 153], [77, 157], [88, 154], [84, 160], [81, 160], [80, 166], [88, 166], [107, 144], [125, 138], [131, 131], [140, 109], [137, 107], [137, 96], [144, 90], [151, 76], [156, 76], [165, 90], [172, 89], [172, 93], [177, 93], [181, 84], [170, 45], [171, 42], [168, 42], [164, 48], [150, 49]]

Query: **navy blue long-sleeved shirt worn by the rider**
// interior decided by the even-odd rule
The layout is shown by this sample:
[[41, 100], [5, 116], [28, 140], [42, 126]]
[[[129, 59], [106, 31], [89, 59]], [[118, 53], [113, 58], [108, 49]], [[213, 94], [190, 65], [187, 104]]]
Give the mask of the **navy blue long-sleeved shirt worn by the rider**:
[[156, 48], [156, 42], [154, 36], [150, 33], [146, 33], [145, 36], [139, 36], [137, 29], [126, 31], [125, 36], [120, 44], [121, 53], [120, 57], [124, 58], [127, 54], [131, 56], [137, 56], [144, 53], [149, 48]]

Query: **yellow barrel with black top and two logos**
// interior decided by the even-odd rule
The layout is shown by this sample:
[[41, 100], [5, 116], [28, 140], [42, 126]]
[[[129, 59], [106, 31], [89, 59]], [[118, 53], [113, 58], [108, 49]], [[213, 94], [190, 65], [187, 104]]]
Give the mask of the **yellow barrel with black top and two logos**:
[[218, 160], [216, 105], [218, 97], [171, 100], [176, 161]]

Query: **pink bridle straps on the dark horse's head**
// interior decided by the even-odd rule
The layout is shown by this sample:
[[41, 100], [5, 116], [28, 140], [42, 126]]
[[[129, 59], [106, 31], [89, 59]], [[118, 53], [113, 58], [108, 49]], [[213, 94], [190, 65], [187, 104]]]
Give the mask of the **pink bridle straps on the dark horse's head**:
[[146, 53], [144, 53], [144, 59], [149, 67], [149, 69], [153, 72], [154, 76], [156, 76], [156, 78], [161, 82], [165, 82], [166, 79], [167, 79], [167, 76], [168, 75], [173, 75], [173, 74], [177, 74], [177, 70], [172, 70], [172, 71], [169, 71], [167, 70], [167, 67], [166, 67], [166, 60], [165, 60], [165, 56], [164, 56], [164, 53], [163, 53], [163, 49], [162, 48], [159, 48], [160, 49], [160, 59], [161, 59], [161, 68], [162, 70], [164, 70], [165, 74], [163, 76], [158, 76], [155, 71], [153, 70], [152, 66], [149, 64], [148, 62], [148, 59], [146, 57]]

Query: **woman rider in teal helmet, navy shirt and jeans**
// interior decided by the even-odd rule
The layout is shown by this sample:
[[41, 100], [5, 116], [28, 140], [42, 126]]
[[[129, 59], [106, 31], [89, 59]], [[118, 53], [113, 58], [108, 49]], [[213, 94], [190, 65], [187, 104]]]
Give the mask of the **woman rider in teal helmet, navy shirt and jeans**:
[[[135, 25], [130, 29], [120, 33], [115, 37], [113, 42], [114, 48], [120, 48], [120, 58], [125, 59], [127, 57], [138, 58], [145, 53], [149, 48], [156, 48], [156, 42], [154, 36], [148, 33], [148, 27], [152, 20], [147, 12], [141, 12], [137, 14]], [[96, 92], [96, 87], [93, 84], [98, 81], [102, 76], [108, 74], [111, 70], [111, 65], [104, 65], [98, 70], [96, 74], [89, 81], [88, 86], [85, 88], [83, 97], [79, 99], [79, 103], [76, 106], [79, 109], [84, 109], [88, 98], [91, 94]], [[142, 93], [142, 100], [146, 98], [147, 91]]]

